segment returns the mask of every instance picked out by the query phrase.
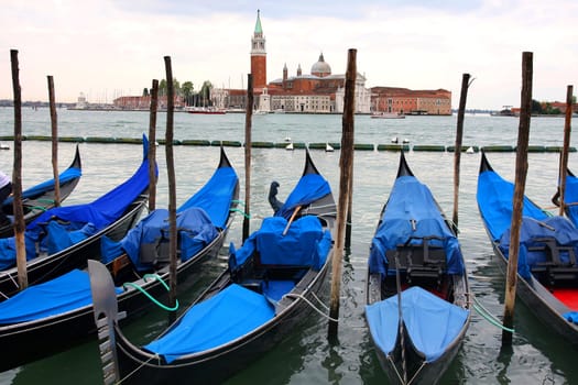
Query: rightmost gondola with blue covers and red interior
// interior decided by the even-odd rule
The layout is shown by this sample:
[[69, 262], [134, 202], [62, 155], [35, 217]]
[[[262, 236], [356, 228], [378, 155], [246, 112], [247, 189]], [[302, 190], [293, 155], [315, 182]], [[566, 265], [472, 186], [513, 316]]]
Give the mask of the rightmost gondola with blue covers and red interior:
[[[505, 272], [514, 185], [493, 170], [482, 153], [477, 201], [497, 261]], [[516, 295], [549, 330], [578, 345], [578, 230], [524, 197]]]

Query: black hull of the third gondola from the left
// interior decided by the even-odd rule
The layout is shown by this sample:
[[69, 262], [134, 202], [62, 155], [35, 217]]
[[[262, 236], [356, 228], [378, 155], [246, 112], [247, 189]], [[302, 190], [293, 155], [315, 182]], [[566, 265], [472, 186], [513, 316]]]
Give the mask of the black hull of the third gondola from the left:
[[[217, 256], [222, 246], [227, 230], [220, 231], [195, 257], [181, 263], [177, 267], [177, 282], [179, 285], [194, 274], [199, 265]], [[170, 283], [168, 266], [156, 273], [162, 280]], [[135, 282], [143, 290], [161, 301], [167, 292], [157, 279], [141, 279]], [[122, 324], [135, 319], [151, 300], [141, 292], [129, 288], [117, 297], [120, 311], [126, 311], [128, 317]], [[10, 354], [0, 361], [0, 372], [63, 352], [84, 341], [94, 338], [96, 332], [92, 306], [84, 306], [57, 316], [43, 318], [37, 321], [0, 326], [0, 345], [11, 346]], [[34, 346], [31, 349], [30, 346]]]

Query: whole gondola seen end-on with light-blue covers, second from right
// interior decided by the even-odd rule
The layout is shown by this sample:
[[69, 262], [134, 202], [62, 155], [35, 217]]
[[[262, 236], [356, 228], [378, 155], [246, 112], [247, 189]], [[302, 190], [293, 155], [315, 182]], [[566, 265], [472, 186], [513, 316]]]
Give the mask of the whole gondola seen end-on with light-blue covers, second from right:
[[366, 320], [392, 384], [435, 384], [470, 322], [458, 239], [403, 152], [371, 242]]

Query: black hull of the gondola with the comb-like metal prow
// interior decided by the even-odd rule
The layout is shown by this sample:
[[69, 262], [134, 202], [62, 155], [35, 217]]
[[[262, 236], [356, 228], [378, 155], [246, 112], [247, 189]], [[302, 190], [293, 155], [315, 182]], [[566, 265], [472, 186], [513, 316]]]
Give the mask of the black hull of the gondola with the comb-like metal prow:
[[[328, 256], [330, 261], [331, 255]], [[310, 279], [302, 284], [308, 287], [303, 295], [315, 302], [313, 294], [319, 295], [327, 275], [327, 263]], [[225, 272], [209, 288], [216, 289], [229, 282], [229, 272]], [[313, 294], [312, 294], [313, 293]], [[176, 360], [171, 364], [159, 363], [153, 354], [145, 353], [133, 345], [119, 328], [114, 328], [117, 354], [122, 383], [126, 384], [190, 384], [192, 378], [199, 384], [215, 384], [246, 369], [252, 362], [295, 332], [304, 319], [313, 311], [302, 298], [285, 299], [292, 301], [280, 315], [261, 328], [226, 345]], [[129, 375], [130, 374], [130, 375]]]

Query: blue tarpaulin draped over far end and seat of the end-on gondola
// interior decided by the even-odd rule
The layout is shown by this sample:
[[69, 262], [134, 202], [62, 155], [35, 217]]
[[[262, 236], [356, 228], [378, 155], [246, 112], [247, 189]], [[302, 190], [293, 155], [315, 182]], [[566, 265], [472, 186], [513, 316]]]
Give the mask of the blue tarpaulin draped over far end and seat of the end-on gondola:
[[[371, 242], [369, 270], [385, 275], [388, 250], [396, 250], [410, 238], [439, 237], [430, 240], [433, 246], [443, 246], [446, 252], [448, 274], [464, 274], [465, 266], [456, 235], [446, 226], [432, 193], [414, 176], [401, 176], [390, 194], [381, 224]], [[413, 240], [412, 244], [421, 244]]]

